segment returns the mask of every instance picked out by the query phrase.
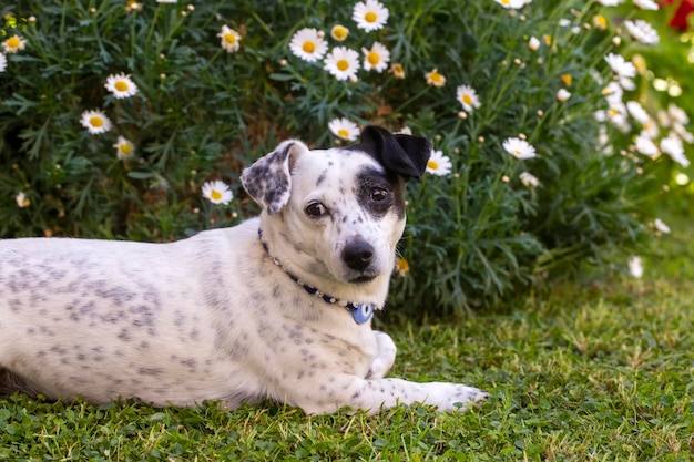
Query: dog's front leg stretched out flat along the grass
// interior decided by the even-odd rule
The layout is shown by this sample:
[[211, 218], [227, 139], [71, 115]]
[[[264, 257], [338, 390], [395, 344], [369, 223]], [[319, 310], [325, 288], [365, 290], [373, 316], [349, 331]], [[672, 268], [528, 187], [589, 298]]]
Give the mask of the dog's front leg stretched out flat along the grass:
[[[302, 390], [300, 396], [296, 396], [298, 390]], [[488, 397], [474, 387], [458, 383], [367, 380], [348, 374], [334, 376], [324, 383], [303, 382], [294, 394], [295, 399], [288, 400], [290, 404], [308, 414], [335, 412], [345, 407], [376, 413], [381, 408], [415, 403], [435, 405], [438, 411], [461, 411]]]

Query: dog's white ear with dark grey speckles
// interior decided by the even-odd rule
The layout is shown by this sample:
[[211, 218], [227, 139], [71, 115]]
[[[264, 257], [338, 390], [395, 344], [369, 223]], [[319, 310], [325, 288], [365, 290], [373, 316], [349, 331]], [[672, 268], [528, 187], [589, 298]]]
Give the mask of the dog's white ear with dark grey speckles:
[[268, 214], [282, 212], [289, 202], [292, 164], [305, 151], [308, 147], [300, 141], [285, 141], [242, 172], [241, 183], [244, 188]]

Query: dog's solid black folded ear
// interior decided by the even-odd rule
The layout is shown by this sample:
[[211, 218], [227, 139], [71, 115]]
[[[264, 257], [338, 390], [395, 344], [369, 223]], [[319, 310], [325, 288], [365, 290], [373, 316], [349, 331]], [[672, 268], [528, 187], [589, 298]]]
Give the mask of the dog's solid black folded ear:
[[421, 178], [431, 155], [429, 140], [392, 134], [380, 126], [369, 125], [361, 131], [361, 140], [349, 150], [363, 151], [376, 158], [387, 171], [405, 179]]

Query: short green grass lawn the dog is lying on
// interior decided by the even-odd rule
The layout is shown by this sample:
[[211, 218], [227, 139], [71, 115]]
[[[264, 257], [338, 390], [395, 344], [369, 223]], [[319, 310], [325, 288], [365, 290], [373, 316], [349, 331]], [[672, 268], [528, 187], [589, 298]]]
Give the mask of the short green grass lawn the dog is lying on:
[[[388, 327], [394, 376], [489, 391], [479, 409], [372, 417], [0, 399], [0, 460], [688, 461], [694, 454], [690, 218], [647, 253], [643, 280], [565, 285], [506, 314]], [[672, 223], [671, 223], [672, 222]]]

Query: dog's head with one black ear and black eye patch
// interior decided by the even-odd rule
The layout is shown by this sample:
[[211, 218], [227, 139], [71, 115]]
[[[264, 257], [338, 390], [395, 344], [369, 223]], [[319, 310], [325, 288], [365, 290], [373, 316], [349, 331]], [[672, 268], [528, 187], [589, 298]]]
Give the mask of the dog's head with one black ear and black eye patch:
[[241, 179], [287, 270], [338, 297], [385, 298], [405, 228], [405, 184], [421, 177], [430, 153], [425, 138], [367, 126], [347, 147], [286, 141]]

